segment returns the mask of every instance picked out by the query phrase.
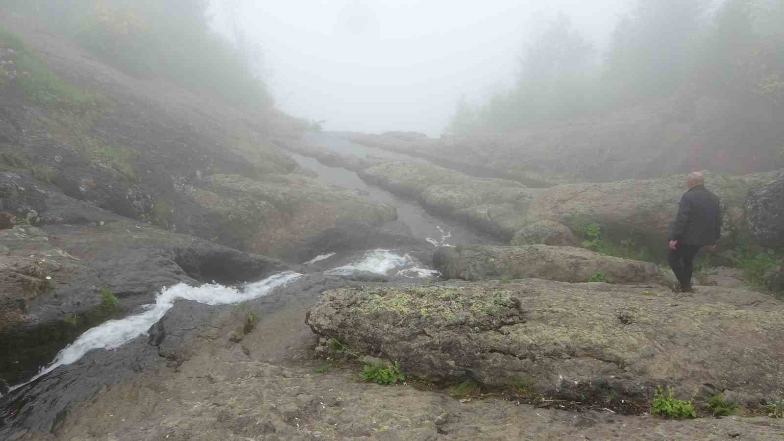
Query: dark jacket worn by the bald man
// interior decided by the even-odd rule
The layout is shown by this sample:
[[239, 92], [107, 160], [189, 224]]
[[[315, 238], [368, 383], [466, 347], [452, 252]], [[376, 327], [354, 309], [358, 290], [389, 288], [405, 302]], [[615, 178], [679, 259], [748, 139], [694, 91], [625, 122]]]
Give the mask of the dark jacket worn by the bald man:
[[721, 204], [705, 186], [686, 191], [681, 198], [678, 216], [670, 240], [688, 245], [708, 245], [721, 237]]

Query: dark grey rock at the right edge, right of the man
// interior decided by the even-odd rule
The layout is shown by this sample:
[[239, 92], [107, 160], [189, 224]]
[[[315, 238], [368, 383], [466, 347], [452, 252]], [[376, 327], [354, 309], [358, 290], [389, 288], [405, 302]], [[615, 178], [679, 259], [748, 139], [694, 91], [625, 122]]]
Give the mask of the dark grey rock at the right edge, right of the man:
[[752, 191], [746, 205], [755, 242], [784, 249], [784, 176]]

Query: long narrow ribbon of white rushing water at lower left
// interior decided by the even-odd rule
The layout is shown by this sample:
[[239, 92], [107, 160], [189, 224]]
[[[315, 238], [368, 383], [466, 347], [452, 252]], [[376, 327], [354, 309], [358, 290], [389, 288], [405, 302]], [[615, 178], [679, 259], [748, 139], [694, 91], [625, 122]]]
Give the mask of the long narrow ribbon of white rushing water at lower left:
[[31, 381], [49, 374], [58, 366], [71, 364], [81, 359], [88, 351], [97, 348], [114, 349], [122, 346], [143, 333], [147, 333], [154, 323], [163, 318], [163, 315], [174, 306], [176, 299], [198, 301], [203, 304], [232, 304], [249, 301], [266, 296], [270, 291], [289, 282], [299, 279], [302, 275], [296, 272], [283, 272], [270, 275], [259, 282], [247, 283], [240, 290], [216, 283], [207, 283], [202, 286], [187, 286], [179, 283], [163, 289], [155, 298], [154, 304], [146, 305], [147, 311], [136, 315], [129, 315], [125, 319], [108, 320], [99, 326], [82, 333], [76, 341], [68, 344], [57, 353], [54, 361], [49, 366], [44, 366], [35, 377], [21, 385], [16, 385], [11, 390], [27, 385]]

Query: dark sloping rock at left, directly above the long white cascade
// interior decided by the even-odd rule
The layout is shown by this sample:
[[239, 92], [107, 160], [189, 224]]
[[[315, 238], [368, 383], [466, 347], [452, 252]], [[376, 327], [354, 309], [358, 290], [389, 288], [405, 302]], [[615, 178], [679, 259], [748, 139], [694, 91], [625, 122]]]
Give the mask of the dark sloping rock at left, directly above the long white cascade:
[[[131, 221], [102, 228], [73, 225], [0, 230], [0, 377], [16, 384], [79, 333], [150, 303], [164, 286], [260, 279], [287, 269], [281, 261], [175, 235]], [[99, 290], [119, 299], [102, 308]], [[76, 324], [67, 318], [78, 317]]]

